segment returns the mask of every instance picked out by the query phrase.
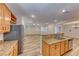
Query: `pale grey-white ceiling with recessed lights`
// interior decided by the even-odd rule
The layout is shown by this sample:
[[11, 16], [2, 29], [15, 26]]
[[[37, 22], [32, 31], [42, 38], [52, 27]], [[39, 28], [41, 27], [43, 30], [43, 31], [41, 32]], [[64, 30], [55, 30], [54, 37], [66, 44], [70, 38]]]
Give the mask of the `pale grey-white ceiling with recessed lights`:
[[[79, 17], [78, 3], [7, 3], [7, 5], [16, 16], [28, 17], [39, 24], [69, 22]], [[62, 13], [62, 10], [68, 12]], [[35, 17], [32, 18], [31, 15]]]

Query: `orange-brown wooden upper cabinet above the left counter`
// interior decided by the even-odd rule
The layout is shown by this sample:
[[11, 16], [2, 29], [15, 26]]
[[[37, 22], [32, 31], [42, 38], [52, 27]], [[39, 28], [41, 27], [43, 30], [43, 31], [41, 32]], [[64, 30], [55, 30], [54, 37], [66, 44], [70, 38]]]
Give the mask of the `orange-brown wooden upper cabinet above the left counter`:
[[0, 3], [0, 33], [10, 32], [10, 24], [16, 23], [16, 17], [13, 22], [12, 15], [9, 8], [5, 4]]

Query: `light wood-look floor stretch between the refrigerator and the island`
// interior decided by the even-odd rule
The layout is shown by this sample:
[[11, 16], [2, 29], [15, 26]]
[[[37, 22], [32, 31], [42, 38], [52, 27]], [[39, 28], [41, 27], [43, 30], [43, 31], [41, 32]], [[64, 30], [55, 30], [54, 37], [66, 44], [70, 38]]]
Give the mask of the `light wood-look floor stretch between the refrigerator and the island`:
[[23, 46], [23, 56], [39, 56], [40, 53], [40, 39], [41, 36], [31, 35], [25, 36]]

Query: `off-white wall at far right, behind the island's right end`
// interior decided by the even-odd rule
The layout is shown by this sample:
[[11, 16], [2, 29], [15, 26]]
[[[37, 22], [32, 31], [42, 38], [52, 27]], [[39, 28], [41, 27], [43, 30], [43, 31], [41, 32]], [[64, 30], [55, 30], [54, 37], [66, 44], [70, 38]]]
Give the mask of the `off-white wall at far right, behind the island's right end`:
[[63, 26], [63, 32], [65, 36], [69, 36], [72, 38], [79, 38], [79, 28], [73, 28], [72, 26], [73, 24]]

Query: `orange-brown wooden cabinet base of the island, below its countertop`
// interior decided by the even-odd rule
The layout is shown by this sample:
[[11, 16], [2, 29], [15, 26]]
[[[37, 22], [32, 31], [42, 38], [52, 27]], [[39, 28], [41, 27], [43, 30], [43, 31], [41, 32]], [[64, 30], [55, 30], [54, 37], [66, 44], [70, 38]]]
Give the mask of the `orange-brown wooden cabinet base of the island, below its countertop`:
[[69, 50], [68, 40], [64, 40], [53, 44], [47, 44], [44, 41], [42, 42], [43, 42], [42, 44], [43, 56], [61, 56]]

